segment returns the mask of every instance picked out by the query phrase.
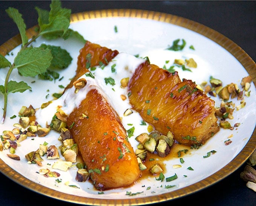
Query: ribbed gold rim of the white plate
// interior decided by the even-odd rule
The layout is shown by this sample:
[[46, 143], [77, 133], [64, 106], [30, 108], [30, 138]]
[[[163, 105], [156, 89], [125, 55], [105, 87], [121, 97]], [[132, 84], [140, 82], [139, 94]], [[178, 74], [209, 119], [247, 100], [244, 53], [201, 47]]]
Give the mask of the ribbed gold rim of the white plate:
[[[132, 18], [146, 18], [149, 20], [155, 20], [170, 24], [175, 24], [181, 27], [185, 27], [194, 32], [200, 33], [203, 36], [211, 39], [217, 44], [225, 48], [229, 53], [231, 53], [235, 58], [243, 65], [245, 70], [253, 77], [254, 85], [256, 86], [256, 64], [251, 59], [251, 57], [242, 50], [237, 44], [231, 41], [226, 36], [221, 33], [216, 32], [213, 29], [210, 29], [207, 26], [204, 26], [200, 23], [197, 23], [192, 20], [188, 20], [183, 17], [178, 17], [176, 15], [165, 14], [162, 12], [155, 11], [144, 11], [137, 9], [108, 9], [108, 10], [98, 10], [98, 11], [89, 11], [81, 12], [77, 14], [72, 14], [70, 21], [71, 23], [93, 19], [93, 18], [108, 18], [108, 17], [132, 17]], [[31, 38], [35, 35], [34, 27], [27, 30], [27, 35]], [[4, 44], [0, 45], [0, 54], [6, 55], [12, 49], [21, 44], [20, 35], [16, 35], [13, 38], [9, 39]], [[225, 177], [229, 176], [236, 169], [238, 169], [242, 164], [247, 161], [249, 156], [256, 149], [256, 129], [254, 128], [253, 134], [242, 151], [225, 167], [206, 179], [201, 180], [200, 182], [194, 183], [185, 188], [178, 189], [176, 191], [168, 192], [165, 194], [142, 197], [142, 198], [133, 198], [133, 199], [106, 199], [105, 202], [102, 202], [102, 199], [94, 199], [89, 197], [80, 197], [76, 195], [70, 195], [62, 193], [53, 189], [49, 189], [45, 186], [39, 185], [31, 180], [23, 177], [18, 172], [14, 171], [9, 167], [5, 162], [0, 159], [1, 168], [0, 171], [9, 177], [14, 182], [31, 189], [40, 194], [47, 195], [49, 197], [56, 198], [58, 200], [69, 201], [73, 203], [88, 204], [88, 205], [138, 205], [138, 204], [150, 204], [150, 203], [159, 203], [162, 201], [173, 200], [175, 198], [180, 198], [185, 195], [192, 194], [194, 192], [200, 191], [204, 188], [207, 188], [214, 183], [219, 182]]]

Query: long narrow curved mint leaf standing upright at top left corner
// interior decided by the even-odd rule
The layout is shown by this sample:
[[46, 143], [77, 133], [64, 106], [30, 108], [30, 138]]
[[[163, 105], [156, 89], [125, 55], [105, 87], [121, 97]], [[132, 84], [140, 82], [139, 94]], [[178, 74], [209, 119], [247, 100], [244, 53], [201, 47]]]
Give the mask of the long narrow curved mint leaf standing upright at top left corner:
[[9, 17], [12, 18], [12, 20], [15, 22], [15, 24], [17, 25], [17, 27], [19, 29], [19, 32], [20, 32], [22, 45], [24, 46], [27, 43], [28, 38], [27, 38], [27, 35], [26, 35], [26, 24], [24, 23], [22, 15], [18, 12], [17, 9], [12, 8], [12, 7], [9, 7], [5, 11], [9, 15]]

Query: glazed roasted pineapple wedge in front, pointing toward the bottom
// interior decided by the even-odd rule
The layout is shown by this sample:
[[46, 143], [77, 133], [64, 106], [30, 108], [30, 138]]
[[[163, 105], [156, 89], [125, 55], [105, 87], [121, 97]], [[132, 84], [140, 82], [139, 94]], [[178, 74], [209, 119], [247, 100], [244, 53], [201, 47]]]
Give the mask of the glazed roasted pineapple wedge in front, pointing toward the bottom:
[[72, 125], [70, 132], [97, 189], [130, 186], [139, 178], [139, 164], [126, 131], [97, 89], [88, 91], [67, 125]]

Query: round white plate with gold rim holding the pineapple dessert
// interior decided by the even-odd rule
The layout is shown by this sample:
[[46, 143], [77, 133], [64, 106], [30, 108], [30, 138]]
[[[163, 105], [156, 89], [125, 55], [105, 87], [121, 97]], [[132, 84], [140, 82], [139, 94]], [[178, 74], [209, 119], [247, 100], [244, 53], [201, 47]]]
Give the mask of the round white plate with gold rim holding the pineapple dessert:
[[[239, 85], [242, 77], [248, 76], [248, 74], [253, 77], [254, 82], [256, 79], [255, 63], [238, 45], [206, 26], [175, 15], [142, 10], [112, 9], [73, 14], [71, 21], [70, 27], [81, 33], [85, 39], [111, 49], [117, 49], [119, 52], [148, 56], [151, 63], [157, 64], [159, 67], [170, 66], [168, 64], [171, 64], [170, 62], [173, 62], [175, 58], [193, 58], [197, 62], [198, 68], [192, 72], [182, 71], [179, 68], [177, 71], [181, 78], [192, 79], [198, 84], [204, 80], [209, 81], [210, 76], [221, 79], [224, 85], [232, 82]], [[33, 28], [27, 30], [27, 33], [31, 37], [34, 34]], [[186, 40], [187, 44], [183, 52], [174, 53], [166, 50], [175, 39]], [[60, 76], [64, 76], [61, 83], [47, 82], [46, 84], [45, 81], [36, 80], [35, 83], [31, 83], [32, 92], [10, 94], [7, 117], [17, 114], [23, 105], [32, 104], [35, 108], [40, 107], [43, 102], [50, 100], [46, 98], [47, 94], [60, 92], [61, 89], [58, 84], [67, 85], [69, 79], [75, 74], [76, 58], [79, 49], [83, 46], [81, 42], [74, 39], [54, 42], [38, 39], [34, 45], [41, 43], [60, 45], [65, 48], [73, 58], [72, 64], [60, 72]], [[18, 52], [17, 46], [19, 44], [20, 39], [15, 36], [1, 45], [0, 52], [12, 52], [14, 55], [8, 56], [9, 61], [12, 62], [12, 58]], [[189, 49], [190, 45], [193, 45], [195, 50]], [[157, 56], [159, 53], [161, 55]], [[0, 72], [3, 73], [4, 71]], [[1, 84], [5, 77], [2, 73], [0, 75]], [[20, 76], [13, 73], [12, 78], [17, 80]], [[33, 82], [34, 80], [30, 77], [25, 78], [26, 82]], [[27, 164], [23, 157], [28, 152], [36, 150], [38, 145], [44, 141], [50, 144], [59, 144], [56, 136], [54, 138], [54, 134], [51, 137], [26, 139], [21, 142], [21, 147], [16, 151], [16, 154], [21, 157], [21, 161], [8, 158], [6, 156], [8, 151], [6, 150], [1, 152], [0, 171], [10, 179], [35, 192], [73, 203], [138, 205], [159, 203], [183, 197], [224, 179], [239, 168], [255, 150], [255, 94], [255, 86], [251, 83], [250, 97], [245, 98], [245, 108], [239, 111], [235, 110], [234, 119], [231, 120], [232, 124], [241, 123], [237, 129], [221, 129], [200, 149], [189, 151], [184, 156], [185, 162], [182, 165], [179, 158], [165, 162], [167, 168], [165, 176], [174, 174], [178, 176], [171, 183], [160, 182], [152, 177], [139, 180], [130, 188], [113, 189], [99, 193], [88, 182], [76, 182], [76, 170], [72, 168], [66, 173], [59, 172], [61, 173], [61, 182], [59, 183], [56, 182], [56, 178], [46, 178], [37, 173], [39, 170], [37, 165]], [[219, 106], [218, 98], [213, 97], [213, 99], [216, 101], [216, 106]], [[232, 101], [239, 105], [239, 101]], [[1, 99], [0, 106], [2, 105], [3, 100]], [[0, 131], [12, 129], [13, 123], [17, 121], [18, 118], [6, 118], [5, 124], [0, 125]], [[232, 143], [225, 145], [224, 142], [227, 139], [231, 139]], [[131, 144], [135, 143], [131, 141]], [[203, 158], [207, 152], [212, 150], [215, 150], [216, 153], [209, 158]], [[174, 169], [172, 166], [177, 164], [182, 167]], [[188, 170], [189, 167], [193, 170]], [[165, 187], [170, 184], [174, 187]], [[76, 185], [77, 188], [70, 188], [68, 185]], [[102, 200], [105, 201], [102, 202]]]

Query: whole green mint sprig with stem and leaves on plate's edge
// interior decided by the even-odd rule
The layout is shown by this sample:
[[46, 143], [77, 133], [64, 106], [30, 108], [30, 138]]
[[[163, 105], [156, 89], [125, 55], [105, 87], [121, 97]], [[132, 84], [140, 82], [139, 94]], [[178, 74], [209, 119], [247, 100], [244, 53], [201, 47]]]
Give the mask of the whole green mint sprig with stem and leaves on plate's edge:
[[[17, 9], [9, 7], [7, 14], [17, 25], [21, 36], [22, 46], [14, 62], [11, 64], [4, 56], [0, 55], [0, 68], [9, 68], [4, 85], [0, 85], [0, 93], [4, 96], [3, 117], [1, 123], [4, 123], [7, 110], [8, 94], [15, 92], [24, 92], [31, 89], [26, 82], [9, 81], [12, 71], [16, 68], [22, 76], [34, 77], [46, 73], [49, 68], [67, 68], [72, 58], [66, 50], [51, 45], [41, 45], [32, 47], [30, 44], [39, 36], [46, 39], [75, 37], [83, 43], [86, 40], [78, 32], [69, 29], [71, 10], [62, 8], [61, 2], [52, 0], [50, 11], [35, 7], [38, 13], [38, 33], [30, 40], [26, 35], [26, 24], [22, 15]], [[56, 55], [58, 53], [58, 55]]]

